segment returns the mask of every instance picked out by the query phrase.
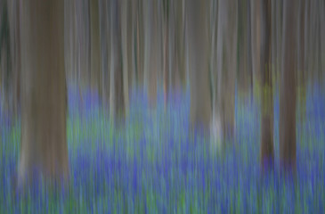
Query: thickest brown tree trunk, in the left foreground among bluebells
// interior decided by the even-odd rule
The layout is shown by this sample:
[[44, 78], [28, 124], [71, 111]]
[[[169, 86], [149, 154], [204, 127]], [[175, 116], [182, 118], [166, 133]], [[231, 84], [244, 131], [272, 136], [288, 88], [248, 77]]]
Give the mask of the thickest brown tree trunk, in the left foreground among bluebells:
[[63, 0], [21, 2], [19, 184], [69, 176]]

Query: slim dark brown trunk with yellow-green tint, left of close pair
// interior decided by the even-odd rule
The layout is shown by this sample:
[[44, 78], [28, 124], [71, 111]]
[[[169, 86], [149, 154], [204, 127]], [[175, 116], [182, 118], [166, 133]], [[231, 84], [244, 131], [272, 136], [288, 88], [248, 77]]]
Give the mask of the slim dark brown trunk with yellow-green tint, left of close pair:
[[261, 161], [266, 167], [273, 162], [273, 96], [272, 96], [272, 71], [271, 71], [271, 0], [264, 0], [262, 5], [262, 44], [261, 44]]

